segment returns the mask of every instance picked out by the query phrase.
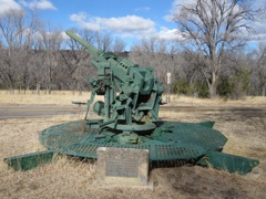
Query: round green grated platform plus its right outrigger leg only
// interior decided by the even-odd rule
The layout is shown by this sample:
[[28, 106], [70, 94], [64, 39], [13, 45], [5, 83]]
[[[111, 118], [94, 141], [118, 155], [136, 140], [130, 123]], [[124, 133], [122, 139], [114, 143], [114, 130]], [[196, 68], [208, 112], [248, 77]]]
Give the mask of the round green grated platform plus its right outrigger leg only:
[[127, 137], [110, 129], [89, 128], [84, 121], [76, 121], [42, 130], [40, 140], [57, 153], [78, 157], [96, 158], [99, 147], [139, 148], [149, 149], [151, 160], [195, 159], [198, 165], [241, 175], [259, 164], [255, 159], [221, 153], [227, 138], [212, 129], [211, 124], [213, 122], [160, 122], [152, 134], [133, 134]]

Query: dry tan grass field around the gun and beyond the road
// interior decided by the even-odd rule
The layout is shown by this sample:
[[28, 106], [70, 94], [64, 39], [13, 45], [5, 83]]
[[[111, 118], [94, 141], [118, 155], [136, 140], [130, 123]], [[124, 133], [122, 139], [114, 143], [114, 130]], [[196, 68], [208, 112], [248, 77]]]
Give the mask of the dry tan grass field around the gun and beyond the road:
[[[0, 92], [1, 105], [63, 104], [86, 101], [68, 93], [52, 95], [9, 95]], [[37, 101], [38, 100], [38, 101]], [[17, 102], [17, 103], [16, 103]], [[34, 103], [35, 102], [35, 103]], [[171, 105], [266, 106], [265, 98], [245, 101], [196, 100], [172, 96]], [[100, 188], [93, 185], [96, 163], [60, 157], [58, 161], [29, 171], [13, 171], [1, 159], [43, 150], [38, 132], [55, 124], [83, 118], [83, 115], [0, 121], [0, 198], [265, 198], [266, 115], [231, 112], [160, 112], [162, 119], [181, 122], [216, 121], [214, 128], [227, 138], [224, 151], [259, 159], [246, 176], [202, 167], [155, 168], [151, 170], [154, 190]]]

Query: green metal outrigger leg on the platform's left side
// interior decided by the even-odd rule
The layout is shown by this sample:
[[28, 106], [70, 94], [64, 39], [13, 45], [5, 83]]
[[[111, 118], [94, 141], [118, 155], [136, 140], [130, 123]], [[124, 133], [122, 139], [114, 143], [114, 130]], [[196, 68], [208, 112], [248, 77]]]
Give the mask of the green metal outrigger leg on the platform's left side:
[[53, 150], [44, 150], [4, 158], [3, 161], [14, 170], [30, 170], [51, 163], [53, 155]]

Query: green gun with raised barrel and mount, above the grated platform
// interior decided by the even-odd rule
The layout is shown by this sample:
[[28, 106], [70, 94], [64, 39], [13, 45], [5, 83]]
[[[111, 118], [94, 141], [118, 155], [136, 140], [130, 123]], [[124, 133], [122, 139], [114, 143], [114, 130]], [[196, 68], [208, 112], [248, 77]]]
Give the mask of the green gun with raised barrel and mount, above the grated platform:
[[[114, 53], [98, 51], [70, 31], [66, 34], [82, 44], [94, 59], [91, 63], [98, 70], [98, 76], [90, 77], [92, 95], [88, 101], [88, 112], [94, 96], [104, 95], [104, 102], [93, 105], [94, 113], [103, 116], [99, 126], [123, 133], [153, 130], [158, 122], [163, 93], [153, 67], [140, 67]], [[90, 121], [88, 124], [91, 125]]]

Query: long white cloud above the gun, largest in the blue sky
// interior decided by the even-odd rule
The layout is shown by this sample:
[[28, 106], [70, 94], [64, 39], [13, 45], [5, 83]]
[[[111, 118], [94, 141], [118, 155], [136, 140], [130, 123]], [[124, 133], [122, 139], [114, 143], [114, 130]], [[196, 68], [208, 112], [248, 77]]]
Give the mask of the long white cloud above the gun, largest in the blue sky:
[[137, 36], [155, 32], [155, 23], [150, 19], [137, 15], [125, 15], [120, 18], [88, 17], [84, 12], [70, 15], [70, 20], [80, 27], [100, 31], [109, 30], [124, 36]]

